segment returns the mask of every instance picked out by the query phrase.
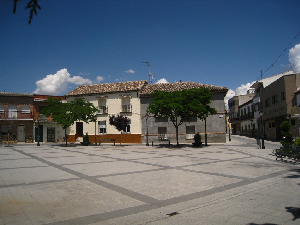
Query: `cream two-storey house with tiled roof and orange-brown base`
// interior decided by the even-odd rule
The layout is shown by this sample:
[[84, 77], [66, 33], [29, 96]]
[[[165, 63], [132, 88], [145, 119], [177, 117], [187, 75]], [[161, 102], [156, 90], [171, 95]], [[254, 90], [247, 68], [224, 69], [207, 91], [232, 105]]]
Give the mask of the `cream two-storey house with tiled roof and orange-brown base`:
[[[116, 138], [119, 142], [119, 131], [109, 125], [109, 116], [122, 114], [130, 119], [130, 124], [122, 131], [123, 143], [141, 143], [141, 108], [140, 92], [147, 84], [146, 80], [108, 84], [82, 85], [67, 93], [68, 102], [83, 98], [98, 108], [96, 121], [97, 142], [102, 138]], [[90, 142], [95, 142], [95, 123], [76, 122], [67, 131], [68, 142], [82, 140], [88, 134]]]

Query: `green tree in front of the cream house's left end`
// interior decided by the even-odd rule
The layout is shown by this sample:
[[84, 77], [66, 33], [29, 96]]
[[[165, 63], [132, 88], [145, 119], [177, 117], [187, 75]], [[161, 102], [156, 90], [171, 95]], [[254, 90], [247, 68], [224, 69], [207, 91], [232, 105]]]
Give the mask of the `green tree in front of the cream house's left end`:
[[61, 125], [66, 137], [66, 146], [67, 128], [78, 120], [86, 123], [94, 122], [94, 115], [98, 111], [93, 104], [84, 101], [82, 98], [76, 98], [70, 103], [61, 102], [61, 99], [58, 98], [48, 98], [45, 102], [48, 103], [48, 106], [41, 113], [49, 116], [52, 118], [52, 121]]

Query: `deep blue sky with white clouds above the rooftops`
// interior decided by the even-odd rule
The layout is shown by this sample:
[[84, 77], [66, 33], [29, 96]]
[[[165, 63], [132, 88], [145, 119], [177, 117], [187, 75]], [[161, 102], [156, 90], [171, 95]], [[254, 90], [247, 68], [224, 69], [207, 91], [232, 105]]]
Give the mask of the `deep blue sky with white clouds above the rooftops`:
[[[28, 1], [16, 14], [13, 0], [0, 1], [0, 91], [64, 95], [81, 84], [144, 80], [144, 61], [154, 82], [235, 90], [258, 79], [300, 31], [298, 0], [40, 0], [31, 25]], [[274, 74], [290, 70], [289, 49], [299, 43], [300, 35]]]

